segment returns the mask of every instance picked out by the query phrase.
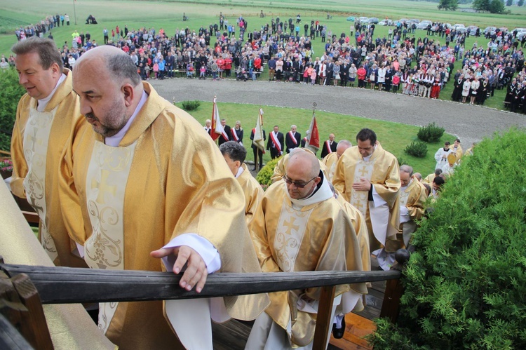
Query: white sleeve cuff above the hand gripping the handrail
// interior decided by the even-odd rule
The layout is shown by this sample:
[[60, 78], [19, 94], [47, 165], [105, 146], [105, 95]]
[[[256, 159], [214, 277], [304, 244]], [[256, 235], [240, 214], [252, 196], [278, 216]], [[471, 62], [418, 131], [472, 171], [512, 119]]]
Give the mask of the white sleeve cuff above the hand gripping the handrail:
[[[173, 238], [163, 248], [176, 248], [181, 245], [188, 245], [195, 250], [203, 258], [208, 274], [213, 274], [215, 271], [221, 269], [221, 257], [214, 245], [208, 239], [199, 236], [198, 234], [182, 234]], [[173, 264], [175, 264], [175, 255], [168, 255], [163, 257], [163, 264], [166, 270], [172, 271]]]

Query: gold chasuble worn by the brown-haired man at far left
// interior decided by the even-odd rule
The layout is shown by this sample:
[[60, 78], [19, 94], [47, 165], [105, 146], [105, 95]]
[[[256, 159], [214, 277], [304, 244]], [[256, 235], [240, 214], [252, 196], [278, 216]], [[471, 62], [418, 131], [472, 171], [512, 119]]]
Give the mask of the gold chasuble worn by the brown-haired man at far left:
[[18, 102], [11, 139], [11, 191], [27, 198], [39, 215], [39, 239], [55, 265], [86, 267], [72, 254], [76, 247], [67, 234], [58, 201], [60, 154], [81, 116], [72, 74], [69, 69], [64, 69], [64, 74], [66, 79], [43, 112], [36, 110], [38, 101], [27, 94]]

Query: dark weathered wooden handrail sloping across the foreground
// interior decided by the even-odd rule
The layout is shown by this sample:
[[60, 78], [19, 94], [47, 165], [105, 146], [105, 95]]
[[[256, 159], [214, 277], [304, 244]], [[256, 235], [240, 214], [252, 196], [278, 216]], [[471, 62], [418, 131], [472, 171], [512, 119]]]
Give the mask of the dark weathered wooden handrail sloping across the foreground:
[[385, 281], [400, 271], [304, 271], [211, 274], [201, 293], [180, 288], [182, 274], [0, 264], [11, 278], [27, 274], [42, 304], [137, 302], [259, 294], [279, 290]]

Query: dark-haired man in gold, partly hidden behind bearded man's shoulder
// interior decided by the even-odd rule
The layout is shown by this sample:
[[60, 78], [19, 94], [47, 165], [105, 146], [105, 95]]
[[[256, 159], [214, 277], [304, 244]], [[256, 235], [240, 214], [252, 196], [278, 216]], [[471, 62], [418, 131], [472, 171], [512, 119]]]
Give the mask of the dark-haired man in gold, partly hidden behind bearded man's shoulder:
[[259, 182], [250, 174], [250, 170], [248, 170], [245, 163], [243, 163], [247, 156], [245, 147], [238, 142], [229, 141], [221, 144], [220, 152], [227, 162], [232, 175], [236, 177], [241, 185], [241, 189], [243, 189], [243, 194], [245, 194], [245, 220], [247, 226], [250, 226], [256, 208], [265, 193]]

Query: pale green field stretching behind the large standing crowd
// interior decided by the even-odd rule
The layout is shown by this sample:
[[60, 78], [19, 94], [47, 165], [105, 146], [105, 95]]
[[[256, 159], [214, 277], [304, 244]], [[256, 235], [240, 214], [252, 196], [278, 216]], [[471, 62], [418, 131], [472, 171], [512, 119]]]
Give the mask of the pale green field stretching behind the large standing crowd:
[[[73, 6], [75, 4], [75, 8]], [[367, 15], [378, 18], [419, 18], [420, 20], [443, 20], [445, 22], [463, 23], [467, 25], [487, 25], [513, 27], [526, 27], [526, 6], [512, 6], [511, 15], [490, 15], [485, 13], [465, 13], [460, 9], [455, 12], [438, 11], [436, 3], [427, 1], [405, 1], [405, 0], [356, 0], [348, 4], [344, 0], [278, 0], [278, 1], [87, 1], [87, 0], [55, 0], [36, 1], [19, 0], [4, 1], [0, 4], [2, 10], [0, 15], [0, 53], [8, 55], [10, 48], [15, 43], [14, 28], [16, 25], [29, 25], [44, 18], [46, 15], [56, 13], [68, 13], [71, 19], [69, 27], [57, 27], [53, 29], [53, 37], [59, 46], [70, 43], [71, 33], [74, 29], [79, 32], [90, 32], [92, 39], [102, 43], [102, 29], [128, 26], [128, 29], [139, 29], [141, 27], [161, 27], [168, 34], [173, 34], [176, 29], [189, 27], [197, 30], [201, 25], [208, 27], [210, 23], [218, 22], [218, 16], [223, 13], [232, 23], [239, 16], [248, 19], [248, 30], [259, 29], [262, 25], [270, 22], [276, 15], [281, 18], [295, 18], [297, 13], [302, 14], [302, 20], [321, 20], [322, 24], [335, 34], [349, 33], [349, 26], [353, 22], [346, 21], [348, 15]], [[76, 22], [74, 19], [76, 11]], [[259, 18], [259, 11], [267, 13], [266, 18]], [[326, 11], [332, 13], [332, 19], [326, 20]], [[189, 22], [182, 22], [182, 13], [189, 16]], [[85, 25], [88, 15], [94, 15], [99, 25]], [[386, 36], [389, 27], [377, 27], [375, 36]], [[425, 32], [417, 30], [414, 36], [418, 39], [424, 37]], [[471, 48], [473, 43], [486, 45], [484, 38], [470, 36], [466, 40], [466, 48]], [[313, 49], [316, 55], [323, 53], [323, 43], [320, 40], [313, 41]], [[457, 69], [459, 64], [456, 65]], [[263, 74], [262, 79], [266, 77]], [[452, 93], [452, 83], [448, 84], [440, 94], [440, 99], [449, 100]], [[505, 92], [497, 90], [495, 96], [486, 101], [488, 107], [502, 109]]]

